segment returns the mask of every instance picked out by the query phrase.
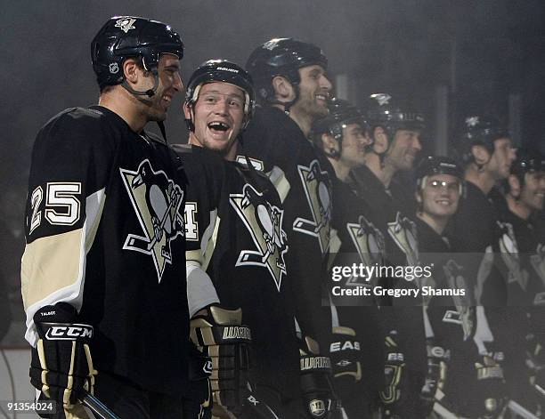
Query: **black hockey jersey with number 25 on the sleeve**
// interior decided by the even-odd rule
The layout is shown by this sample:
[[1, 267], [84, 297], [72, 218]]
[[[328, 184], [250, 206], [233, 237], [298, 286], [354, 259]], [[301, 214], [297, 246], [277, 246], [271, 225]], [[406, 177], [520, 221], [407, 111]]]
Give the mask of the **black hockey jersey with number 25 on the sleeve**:
[[183, 391], [185, 178], [174, 153], [109, 109], [67, 109], [37, 135], [28, 188], [21, 267], [28, 341], [37, 341], [37, 309], [69, 302], [94, 326], [99, 373]]

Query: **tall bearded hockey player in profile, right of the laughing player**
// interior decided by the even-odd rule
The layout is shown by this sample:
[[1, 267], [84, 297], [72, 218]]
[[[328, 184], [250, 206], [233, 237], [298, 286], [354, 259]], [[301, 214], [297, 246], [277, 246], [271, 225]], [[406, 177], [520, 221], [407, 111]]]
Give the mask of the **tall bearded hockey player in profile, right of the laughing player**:
[[284, 205], [308, 417], [337, 409], [327, 376], [330, 361], [323, 356], [331, 323], [321, 308], [331, 235], [331, 179], [307, 140], [313, 121], [328, 114], [331, 84], [326, 67], [320, 48], [291, 38], [272, 39], [250, 54], [246, 69], [262, 106], [256, 108], [237, 157], [244, 161], [248, 156], [258, 170], [272, 174]]

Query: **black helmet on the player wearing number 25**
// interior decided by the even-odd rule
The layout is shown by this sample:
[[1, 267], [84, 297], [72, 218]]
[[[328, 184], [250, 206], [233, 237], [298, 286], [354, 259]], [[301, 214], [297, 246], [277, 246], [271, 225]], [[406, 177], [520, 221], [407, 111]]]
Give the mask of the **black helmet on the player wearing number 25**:
[[[131, 93], [152, 96], [159, 79], [157, 67], [162, 53], [183, 58], [181, 37], [166, 23], [133, 16], [110, 18], [94, 36], [91, 60], [101, 89], [107, 85], [124, 84], [123, 62], [129, 57], [142, 58], [142, 66], [155, 75], [155, 86], [147, 92]], [[126, 85], [124, 85], [127, 87]]]

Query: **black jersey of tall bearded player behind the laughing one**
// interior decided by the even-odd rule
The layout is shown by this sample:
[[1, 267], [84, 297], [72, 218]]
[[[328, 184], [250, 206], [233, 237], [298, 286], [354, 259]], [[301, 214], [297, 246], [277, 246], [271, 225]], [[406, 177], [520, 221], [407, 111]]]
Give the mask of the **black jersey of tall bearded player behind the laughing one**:
[[237, 159], [244, 161], [244, 155], [269, 173], [284, 205], [297, 322], [303, 334], [327, 344], [330, 322], [321, 310], [321, 286], [327, 274], [332, 214], [329, 173], [297, 124], [273, 107], [256, 109]]

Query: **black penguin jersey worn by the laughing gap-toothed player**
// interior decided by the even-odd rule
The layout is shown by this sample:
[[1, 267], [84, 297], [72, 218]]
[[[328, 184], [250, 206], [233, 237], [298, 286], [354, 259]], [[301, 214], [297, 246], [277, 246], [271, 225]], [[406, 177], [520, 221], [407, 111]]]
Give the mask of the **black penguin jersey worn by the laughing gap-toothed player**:
[[187, 260], [207, 271], [222, 307], [242, 309], [252, 331], [257, 389], [273, 387], [291, 399], [299, 388], [299, 352], [280, 197], [253, 167], [199, 147], [174, 148], [188, 177]]

